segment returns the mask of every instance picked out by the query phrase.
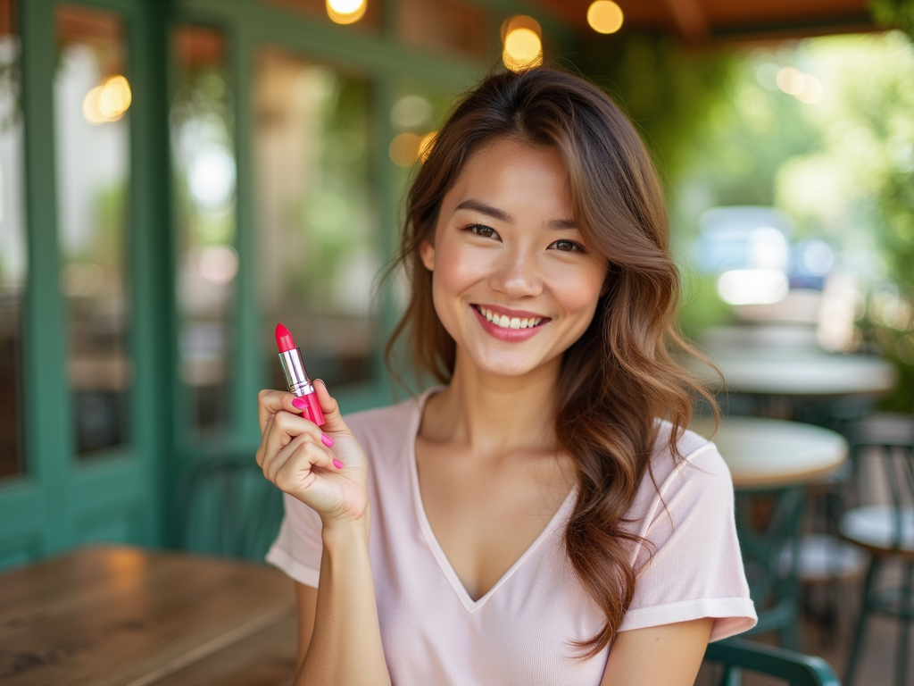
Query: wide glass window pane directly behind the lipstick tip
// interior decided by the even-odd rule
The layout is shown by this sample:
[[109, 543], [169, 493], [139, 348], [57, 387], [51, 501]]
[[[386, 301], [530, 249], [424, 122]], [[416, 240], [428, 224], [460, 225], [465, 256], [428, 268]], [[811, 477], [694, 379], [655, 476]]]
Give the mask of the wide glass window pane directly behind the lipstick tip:
[[331, 387], [367, 381], [379, 268], [367, 80], [262, 48], [254, 94], [258, 281], [273, 388], [285, 385], [274, 355], [277, 322], [292, 331], [315, 377]]

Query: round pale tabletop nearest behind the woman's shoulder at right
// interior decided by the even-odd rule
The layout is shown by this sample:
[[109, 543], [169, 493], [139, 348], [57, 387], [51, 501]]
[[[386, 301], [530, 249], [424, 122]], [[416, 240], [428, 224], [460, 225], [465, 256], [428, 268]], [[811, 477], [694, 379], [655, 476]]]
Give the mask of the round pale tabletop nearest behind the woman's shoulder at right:
[[812, 424], [726, 417], [713, 436], [712, 426], [699, 417], [689, 428], [714, 441], [738, 489], [812, 483], [827, 477], [847, 458], [847, 442], [841, 434]]

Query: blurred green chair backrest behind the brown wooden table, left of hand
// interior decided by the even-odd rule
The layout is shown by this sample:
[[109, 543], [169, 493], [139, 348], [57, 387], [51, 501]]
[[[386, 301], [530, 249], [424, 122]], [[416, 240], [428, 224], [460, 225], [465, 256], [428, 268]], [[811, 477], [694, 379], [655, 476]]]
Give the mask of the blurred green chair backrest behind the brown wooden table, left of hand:
[[282, 521], [282, 492], [252, 452], [201, 457], [181, 475], [172, 513], [178, 547], [262, 562]]

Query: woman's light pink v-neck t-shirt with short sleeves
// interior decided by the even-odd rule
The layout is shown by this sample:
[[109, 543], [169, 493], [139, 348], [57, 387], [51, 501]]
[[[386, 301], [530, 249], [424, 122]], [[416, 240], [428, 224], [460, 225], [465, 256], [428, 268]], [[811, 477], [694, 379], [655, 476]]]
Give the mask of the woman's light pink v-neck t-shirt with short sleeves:
[[[416, 434], [422, 406], [435, 390], [345, 417], [369, 463], [369, 556], [393, 683], [599, 686], [611, 647], [580, 660], [571, 643], [603, 626], [562, 543], [577, 488], [498, 583], [474, 601], [435, 539], [420, 496]], [[659, 446], [664, 429], [668, 423]], [[711, 640], [717, 640], [757, 621], [739, 555], [733, 486], [714, 444], [686, 432], [679, 447], [685, 462], [677, 467], [664, 447], [654, 451], [659, 496], [645, 477], [629, 513], [632, 528], [655, 549], [650, 562], [644, 546], [632, 556], [638, 581], [620, 630], [714, 617]], [[321, 550], [320, 518], [285, 496], [285, 518], [267, 561], [316, 587]]]

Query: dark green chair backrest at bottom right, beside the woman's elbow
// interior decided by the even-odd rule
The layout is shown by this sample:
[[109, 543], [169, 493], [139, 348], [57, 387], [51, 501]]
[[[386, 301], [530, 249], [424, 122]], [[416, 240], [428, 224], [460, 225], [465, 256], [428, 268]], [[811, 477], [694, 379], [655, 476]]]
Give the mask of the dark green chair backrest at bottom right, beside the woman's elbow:
[[841, 686], [831, 665], [822, 658], [774, 648], [744, 638], [709, 643], [705, 659], [724, 666], [721, 686], [734, 681], [736, 670], [755, 671], [787, 681], [790, 686]]

